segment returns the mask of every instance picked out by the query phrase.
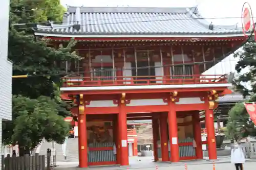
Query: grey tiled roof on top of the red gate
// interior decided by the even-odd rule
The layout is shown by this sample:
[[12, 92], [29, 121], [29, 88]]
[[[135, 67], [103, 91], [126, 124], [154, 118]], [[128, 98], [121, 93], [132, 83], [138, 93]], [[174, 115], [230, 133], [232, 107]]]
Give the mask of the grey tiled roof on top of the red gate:
[[[73, 25], [79, 23], [76, 31]], [[242, 34], [237, 26], [214, 26], [195, 8], [69, 7], [62, 25], [37, 26], [35, 32], [82, 35]]]

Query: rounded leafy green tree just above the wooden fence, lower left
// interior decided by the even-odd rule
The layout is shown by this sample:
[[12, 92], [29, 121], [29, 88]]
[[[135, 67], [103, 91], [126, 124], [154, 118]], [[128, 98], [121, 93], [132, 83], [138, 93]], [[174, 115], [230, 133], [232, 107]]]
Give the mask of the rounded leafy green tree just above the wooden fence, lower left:
[[13, 121], [5, 123], [4, 143], [18, 144], [20, 155], [34, 149], [43, 138], [62, 143], [69, 125], [58, 115], [59, 105], [47, 96], [30, 99], [13, 96]]

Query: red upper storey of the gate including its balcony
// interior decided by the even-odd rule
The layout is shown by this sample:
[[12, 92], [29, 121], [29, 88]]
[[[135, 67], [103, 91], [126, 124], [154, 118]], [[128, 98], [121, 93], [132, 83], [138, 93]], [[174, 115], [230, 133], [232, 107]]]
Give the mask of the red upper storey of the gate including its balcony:
[[80, 61], [59, 64], [76, 73], [63, 78], [61, 90], [227, 87], [225, 75], [205, 75], [226, 57], [224, 47], [134, 47], [100, 53], [91, 49], [81, 52], [85, 57]]

